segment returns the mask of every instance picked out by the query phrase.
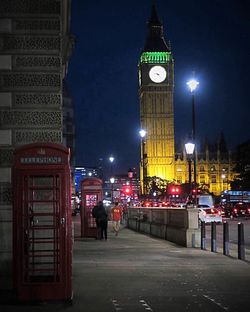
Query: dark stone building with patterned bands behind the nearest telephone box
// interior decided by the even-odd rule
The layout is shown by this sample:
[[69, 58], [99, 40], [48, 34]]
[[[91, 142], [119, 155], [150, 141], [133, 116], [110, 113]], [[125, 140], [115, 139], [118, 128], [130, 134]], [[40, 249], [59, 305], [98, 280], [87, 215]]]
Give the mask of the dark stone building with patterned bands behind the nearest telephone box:
[[13, 151], [34, 142], [63, 143], [70, 3], [0, 0], [0, 273], [5, 276], [12, 264]]

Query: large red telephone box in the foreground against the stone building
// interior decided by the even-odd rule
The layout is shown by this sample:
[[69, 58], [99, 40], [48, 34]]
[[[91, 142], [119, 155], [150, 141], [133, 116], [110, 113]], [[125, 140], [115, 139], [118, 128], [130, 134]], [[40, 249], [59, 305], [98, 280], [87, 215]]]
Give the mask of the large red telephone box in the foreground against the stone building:
[[70, 180], [63, 145], [15, 150], [13, 275], [20, 300], [72, 299]]

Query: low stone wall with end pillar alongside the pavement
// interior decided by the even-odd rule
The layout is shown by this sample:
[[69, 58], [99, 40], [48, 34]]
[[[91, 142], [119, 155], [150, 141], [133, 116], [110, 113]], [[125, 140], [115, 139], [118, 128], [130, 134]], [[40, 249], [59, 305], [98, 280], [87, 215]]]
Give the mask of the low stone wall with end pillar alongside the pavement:
[[181, 246], [200, 247], [201, 233], [196, 208], [129, 208], [127, 226]]

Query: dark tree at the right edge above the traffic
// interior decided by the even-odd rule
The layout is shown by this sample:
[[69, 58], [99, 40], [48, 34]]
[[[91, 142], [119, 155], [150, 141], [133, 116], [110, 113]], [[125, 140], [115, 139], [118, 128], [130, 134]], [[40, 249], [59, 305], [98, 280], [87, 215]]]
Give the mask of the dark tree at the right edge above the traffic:
[[231, 182], [231, 189], [250, 190], [250, 140], [236, 147], [235, 160], [234, 171], [239, 176]]

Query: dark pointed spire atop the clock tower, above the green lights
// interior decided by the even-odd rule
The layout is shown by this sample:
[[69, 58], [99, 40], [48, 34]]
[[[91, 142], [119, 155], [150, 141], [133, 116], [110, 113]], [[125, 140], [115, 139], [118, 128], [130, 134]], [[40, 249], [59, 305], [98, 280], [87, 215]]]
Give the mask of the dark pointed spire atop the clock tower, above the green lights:
[[144, 52], [170, 52], [171, 49], [164, 39], [163, 25], [157, 14], [155, 0], [152, 0], [151, 16], [147, 23], [147, 27], [148, 30], [144, 45]]

